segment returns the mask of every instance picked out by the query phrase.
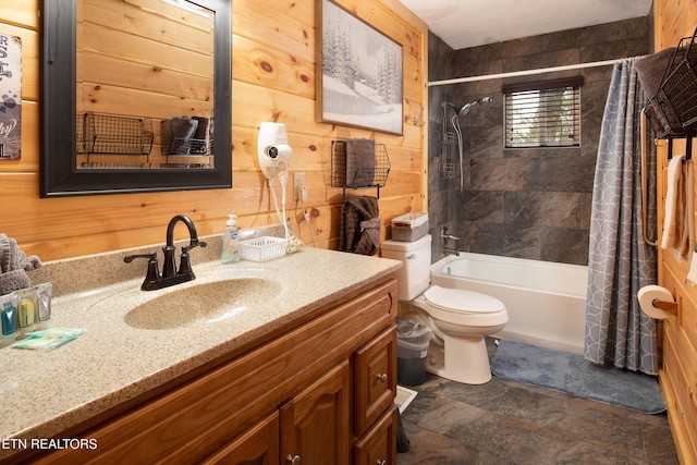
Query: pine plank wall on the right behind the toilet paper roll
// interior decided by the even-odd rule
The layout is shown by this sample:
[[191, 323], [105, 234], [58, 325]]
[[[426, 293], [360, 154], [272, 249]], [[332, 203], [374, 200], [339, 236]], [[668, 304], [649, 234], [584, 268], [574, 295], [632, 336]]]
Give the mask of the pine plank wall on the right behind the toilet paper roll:
[[[697, 27], [697, 0], [656, 0], [653, 9], [657, 51], [675, 47]], [[697, 150], [697, 144], [693, 147]], [[673, 152], [684, 154], [684, 150], [685, 140], [675, 140]], [[658, 157], [659, 192], [663, 198], [659, 203], [659, 224], [662, 227], [669, 163], [664, 146], [659, 147]], [[697, 197], [694, 185], [693, 195]], [[686, 279], [688, 267], [686, 261], [676, 261], [672, 252], [659, 248], [659, 284], [671, 290], [678, 302], [677, 317], [670, 317], [661, 325], [663, 360], [659, 380], [680, 461], [697, 464], [697, 286]]]

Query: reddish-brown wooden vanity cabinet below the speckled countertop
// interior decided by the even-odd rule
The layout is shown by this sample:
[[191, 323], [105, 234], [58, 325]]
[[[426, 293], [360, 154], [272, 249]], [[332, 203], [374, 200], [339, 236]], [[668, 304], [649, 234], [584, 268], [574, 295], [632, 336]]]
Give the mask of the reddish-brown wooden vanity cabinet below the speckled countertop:
[[390, 274], [32, 463], [394, 464], [395, 315]]

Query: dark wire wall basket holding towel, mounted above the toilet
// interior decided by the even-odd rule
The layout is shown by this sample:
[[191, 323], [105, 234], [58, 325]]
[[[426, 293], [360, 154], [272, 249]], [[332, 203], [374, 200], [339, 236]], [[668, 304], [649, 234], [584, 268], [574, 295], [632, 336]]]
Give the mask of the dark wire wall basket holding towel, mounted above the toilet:
[[371, 188], [378, 191], [380, 198], [380, 187], [384, 187], [390, 174], [390, 158], [384, 144], [375, 145], [375, 163], [370, 159], [368, 162], [359, 160], [353, 150], [353, 144], [348, 140], [331, 142], [331, 186], [342, 187], [344, 199], [346, 188]]

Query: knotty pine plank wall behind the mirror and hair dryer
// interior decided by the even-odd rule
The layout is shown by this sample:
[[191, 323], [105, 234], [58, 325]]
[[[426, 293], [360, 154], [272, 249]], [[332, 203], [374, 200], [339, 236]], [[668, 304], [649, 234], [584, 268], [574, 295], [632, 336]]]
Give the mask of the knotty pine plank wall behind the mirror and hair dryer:
[[[382, 237], [391, 218], [426, 209], [426, 24], [396, 0], [338, 3], [403, 47], [404, 133], [372, 133], [315, 120], [315, 1], [233, 2], [233, 188], [40, 199], [39, 44], [41, 0], [0, 0], [0, 32], [22, 38], [22, 158], [0, 161], [0, 232], [44, 261], [148, 244], [162, 244], [169, 219], [186, 213], [200, 235], [222, 232], [228, 213], [243, 229], [278, 223], [259, 172], [256, 139], [264, 121], [285, 123], [294, 149], [291, 171], [305, 172], [311, 231], [289, 201], [301, 238], [337, 248], [342, 191], [331, 187], [333, 138], [371, 137], [384, 144], [392, 170], [380, 189]], [[278, 188], [278, 187], [277, 187]], [[292, 198], [292, 185], [288, 195]], [[375, 189], [350, 192], [375, 195]], [[280, 193], [279, 193], [280, 195]], [[178, 228], [176, 238], [185, 231]], [[314, 241], [313, 241], [314, 238]]]

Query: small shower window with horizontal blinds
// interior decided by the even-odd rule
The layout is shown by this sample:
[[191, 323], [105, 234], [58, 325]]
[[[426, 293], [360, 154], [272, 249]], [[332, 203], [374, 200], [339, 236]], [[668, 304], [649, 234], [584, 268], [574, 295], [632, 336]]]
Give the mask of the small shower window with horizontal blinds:
[[505, 147], [578, 147], [583, 77], [503, 86]]

